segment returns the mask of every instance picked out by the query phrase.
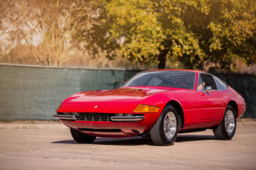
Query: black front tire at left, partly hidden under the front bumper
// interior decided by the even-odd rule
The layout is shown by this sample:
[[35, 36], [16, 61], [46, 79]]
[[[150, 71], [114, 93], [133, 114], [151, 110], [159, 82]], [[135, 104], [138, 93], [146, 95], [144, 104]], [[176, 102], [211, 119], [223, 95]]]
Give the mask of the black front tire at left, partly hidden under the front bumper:
[[73, 139], [78, 143], [91, 143], [94, 142], [96, 137], [83, 134], [78, 130], [70, 128], [70, 133], [72, 134]]

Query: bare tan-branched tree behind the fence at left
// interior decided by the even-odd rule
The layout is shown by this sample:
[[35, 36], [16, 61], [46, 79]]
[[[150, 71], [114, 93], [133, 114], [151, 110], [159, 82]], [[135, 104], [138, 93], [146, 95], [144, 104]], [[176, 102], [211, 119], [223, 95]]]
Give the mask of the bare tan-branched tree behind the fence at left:
[[[88, 28], [96, 0], [6, 1], [2, 26], [29, 46], [38, 64], [61, 66], [69, 59], [77, 28]], [[5, 30], [5, 29], [4, 29]], [[7, 29], [6, 29], [7, 30]], [[4, 31], [3, 31], [4, 32]], [[2, 33], [3, 33], [2, 32]]]

